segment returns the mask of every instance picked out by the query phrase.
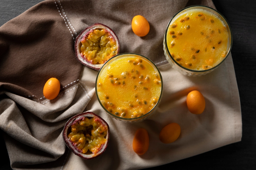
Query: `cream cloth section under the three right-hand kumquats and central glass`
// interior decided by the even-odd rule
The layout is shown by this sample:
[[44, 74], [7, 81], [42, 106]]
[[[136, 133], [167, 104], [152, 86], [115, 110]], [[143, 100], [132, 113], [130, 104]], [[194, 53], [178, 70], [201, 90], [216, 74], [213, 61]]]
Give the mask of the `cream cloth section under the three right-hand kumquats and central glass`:
[[[108, 148], [93, 160], [83, 160], [70, 151], [62, 169], [142, 169], [241, 141], [241, 108], [231, 54], [220, 67], [201, 77], [184, 76], [169, 64], [158, 68], [164, 93], [157, 112], [143, 122], [125, 123], [107, 115], [93, 95], [87, 109], [109, 124]], [[94, 85], [96, 75], [96, 71], [85, 67], [80, 82], [90, 80]], [[94, 90], [93, 86], [88, 88], [88, 91]], [[199, 90], [205, 97], [206, 106], [201, 115], [190, 113], [186, 106], [186, 96], [192, 90]], [[173, 122], [180, 125], [181, 135], [175, 142], [164, 144], [159, 140], [159, 133]], [[142, 156], [132, 149], [133, 137], [139, 128], [145, 128], [149, 134], [149, 149]]]

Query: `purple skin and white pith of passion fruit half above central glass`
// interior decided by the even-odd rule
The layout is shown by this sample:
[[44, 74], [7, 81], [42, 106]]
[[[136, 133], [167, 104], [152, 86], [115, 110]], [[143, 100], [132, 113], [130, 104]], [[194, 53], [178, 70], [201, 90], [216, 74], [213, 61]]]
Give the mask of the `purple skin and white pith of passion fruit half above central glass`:
[[[83, 58], [83, 56], [81, 56], [81, 54], [79, 53], [79, 43], [80, 43], [80, 37], [84, 37], [86, 34], [88, 34], [90, 32], [91, 29], [95, 29], [95, 28], [107, 28], [109, 30], [109, 32], [112, 34], [114, 38], [114, 40], [117, 42], [118, 44], [118, 48], [117, 48], [117, 54], [119, 54], [119, 50], [120, 50], [120, 43], [119, 43], [119, 39], [117, 37], [117, 35], [115, 34], [115, 32], [109, 28], [107, 25], [101, 24], [101, 23], [95, 23], [87, 28], [85, 28], [77, 37], [76, 37], [76, 41], [75, 41], [75, 52], [76, 52], [76, 58], [77, 60], [82, 63], [83, 65], [92, 68], [94, 70], [99, 70], [101, 68], [101, 66], [103, 64], [92, 64], [90, 61], [88, 61], [87, 59]], [[104, 29], [105, 29], [104, 28]], [[80, 56], [83, 58], [84, 61], [82, 61], [82, 59], [80, 59]], [[114, 56], [113, 56], [114, 57]], [[98, 65], [98, 66], [97, 66]]]

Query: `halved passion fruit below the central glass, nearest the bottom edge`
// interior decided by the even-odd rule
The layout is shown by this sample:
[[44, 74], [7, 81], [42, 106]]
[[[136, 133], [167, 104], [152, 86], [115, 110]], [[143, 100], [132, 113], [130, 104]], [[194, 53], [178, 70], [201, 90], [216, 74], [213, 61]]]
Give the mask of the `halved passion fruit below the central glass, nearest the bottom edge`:
[[93, 112], [71, 117], [63, 129], [68, 148], [83, 159], [93, 159], [107, 148], [110, 130], [107, 122]]

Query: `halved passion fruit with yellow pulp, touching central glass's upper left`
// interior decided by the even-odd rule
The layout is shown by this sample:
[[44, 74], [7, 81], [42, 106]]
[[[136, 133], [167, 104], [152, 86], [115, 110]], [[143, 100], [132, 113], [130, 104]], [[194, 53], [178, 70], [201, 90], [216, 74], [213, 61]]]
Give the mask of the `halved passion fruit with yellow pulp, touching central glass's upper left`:
[[119, 54], [119, 49], [114, 31], [100, 23], [83, 30], [75, 42], [77, 60], [94, 70], [99, 70], [108, 59]]

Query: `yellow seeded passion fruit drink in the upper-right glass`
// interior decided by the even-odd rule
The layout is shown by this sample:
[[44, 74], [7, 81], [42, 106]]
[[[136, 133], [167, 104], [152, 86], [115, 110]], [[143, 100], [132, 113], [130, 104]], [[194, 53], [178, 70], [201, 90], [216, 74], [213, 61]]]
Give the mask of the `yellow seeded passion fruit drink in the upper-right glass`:
[[180, 14], [170, 23], [166, 35], [171, 56], [191, 70], [217, 66], [227, 55], [228, 38], [223, 22], [203, 9]]

